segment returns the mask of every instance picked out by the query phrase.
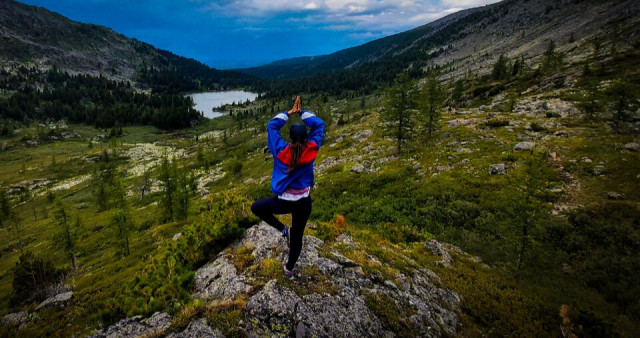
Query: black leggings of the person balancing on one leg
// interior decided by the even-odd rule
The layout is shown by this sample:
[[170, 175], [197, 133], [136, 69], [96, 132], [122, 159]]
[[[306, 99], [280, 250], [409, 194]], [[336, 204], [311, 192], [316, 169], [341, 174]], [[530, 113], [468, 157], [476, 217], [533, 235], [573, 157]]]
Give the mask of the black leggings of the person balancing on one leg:
[[300, 256], [304, 228], [307, 225], [309, 215], [311, 215], [311, 197], [305, 197], [295, 202], [282, 200], [278, 197], [265, 198], [255, 201], [251, 205], [251, 211], [267, 224], [280, 231], [284, 230], [285, 225], [274, 214], [291, 214], [292, 224], [291, 229], [289, 229], [290, 248], [287, 270], [292, 271]]

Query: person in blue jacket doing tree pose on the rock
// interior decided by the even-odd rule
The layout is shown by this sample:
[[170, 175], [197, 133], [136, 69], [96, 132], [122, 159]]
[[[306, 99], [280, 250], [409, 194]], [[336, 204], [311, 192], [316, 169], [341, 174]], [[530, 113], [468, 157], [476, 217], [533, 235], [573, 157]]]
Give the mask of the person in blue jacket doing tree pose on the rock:
[[[291, 143], [280, 136], [280, 129], [292, 115], [300, 115], [302, 122], [289, 128]], [[307, 131], [307, 127], [309, 131]], [[280, 230], [289, 242], [289, 259], [284, 264], [284, 275], [293, 278], [293, 268], [302, 250], [302, 237], [311, 215], [313, 165], [324, 138], [324, 121], [313, 113], [302, 110], [300, 96], [293, 108], [276, 115], [267, 123], [267, 143], [273, 155], [271, 192], [274, 197], [255, 201], [251, 211], [272, 227]], [[291, 228], [274, 215], [291, 214]]]

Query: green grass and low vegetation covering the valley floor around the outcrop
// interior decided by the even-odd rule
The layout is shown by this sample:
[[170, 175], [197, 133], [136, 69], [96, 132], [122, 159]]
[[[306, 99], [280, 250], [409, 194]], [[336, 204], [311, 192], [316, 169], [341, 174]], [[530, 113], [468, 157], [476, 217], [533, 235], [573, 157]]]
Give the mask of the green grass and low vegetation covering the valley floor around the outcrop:
[[[284, 102], [275, 105], [278, 104], [284, 107]], [[330, 102], [327, 108], [333, 108], [337, 117], [339, 112], [358, 104], [357, 99], [337, 101]], [[446, 122], [459, 116], [444, 113], [441, 128], [433, 139], [418, 136], [409, 144], [411, 150], [407, 156], [391, 158], [374, 166], [379, 170], [377, 172], [356, 174], [350, 171], [354, 163], [394, 155], [390, 147], [395, 143], [383, 136], [378, 115], [374, 113], [375, 108], [381, 105], [381, 99], [372, 95], [367, 97], [367, 104], [373, 109], [354, 112], [345, 125], [328, 126], [326, 142], [317, 163], [328, 157], [344, 160], [344, 163], [317, 173], [311, 220], [317, 229], [307, 230], [308, 234], [325, 240], [327, 245], [334, 246], [358, 263], [366, 274], [379, 275], [383, 280], [397, 282], [399, 273], [410, 274], [417, 267], [432, 269], [440, 276], [444, 287], [459, 292], [465, 299], [461, 316], [463, 332], [467, 335], [475, 336], [478, 331], [489, 335], [516, 335], [517, 332], [547, 335], [557, 332], [557, 313], [562, 304], [570, 304], [576, 313], [596, 309], [593, 311], [597, 319], [594, 322], [604, 323], [604, 326], [615, 322], [620, 332], [637, 329], [633, 323], [623, 319], [624, 315], [615, 305], [582, 286], [579, 276], [563, 274], [562, 262], [549, 259], [555, 251], [544, 243], [534, 242], [528, 261], [531, 264], [529, 270], [514, 272], [517, 271], [514, 262], [519, 243], [514, 238], [519, 238], [521, 224], [517, 217], [526, 210], [518, 205], [524, 196], [519, 189], [528, 178], [526, 162], [531, 154], [515, 152], [513, 146], [521, 141], [519, 134], [530, 133], [525, 129], [527, 124], [549, 121], [547, 117], [508, 115], [508, 121], [512, 122], [509, 128], [498, 128], [498, 125], [486, 129], [482, 125], [450, 128]], [[206, 188], [212, 194], [237, 190], [249, 198], [262, 198], [270, 194], [271, 162], [268, 154], [262, 152], [266, 146], [265, 133], [256, 132], [253, 128], [260, 128], [270, 117], [268, 115], [260, 116], [258, 121], [245, 121], [243, 130], [239, 130], [237, 122], [228, 116], [174, 132], [152, 127], [125, 127], [124, 136], [118, 139], [117, 152], [122, 154], [133, 144], [156, 143], [183, 150], [189, 157], [180, 159], [180, 162], [187, 170], [202, 169], [205, 162], [209, 168], [227, 170], [231, 158], [235, 157], [242, 163], [239, 175], [228, 174], [209, 183]], [[477, 112], [464, 118], [477, 118], [481, 123], [487, 121], [486, 117], [485, 112]], [[640, 156], [620, 151], [620, 145], [634, 140], [634, 136], [612, 134], [603, 123], [585, 122], [579, 116], [561, 118], [554, 115], [553, 120], [568, 129], [571, 137], [552, 136], [536, 142], [542, 148], [540, 152], [559, 155], [557, 164], [571, 171], [580, 182], [580, 189], [572, 192], [571, 196], [568, 193], [558, 196], [543, 194], [540, 210], [549, 211], [553, 203], [559, 202], [575, 206], [592, 205], [605, 199], [608, 191], [623, 193], [626, 200], [621, 203], [637, 205], [640, 201], [640, 191], [636, 188], [640, 186], [637, 170], [640, 168]], [[504, 126], [502, 121], [499, 124]], [[11, 148], [0, 152], [2, 184], [7, 186], [37, 178], [59, 182], [91, 174], [96, 166], [87, 162], [85, 157], [99, 155], [102, 150], [109, 149], [109, 143], [98, 143], [89, 149], [87, 140], [104, 134], [104, 131], [84, 125], [71, 125], [70, 128], [80, 135], [79, 139], [54, 141], [37, 147], [26, 147], [20, 141], [25, 131], [3, 139], [3, 142], [11, 144]], [[356, 129], [370, 129], [374, 135], [364, 141], [354, 140], [350, 134]], [[196, 135], [212, 130], [227, 130], [227, 140], [200, 139], [195, 142]], [[540, 133], [553, 131], [540, 130]], [[337, 142], [339, 138], [342, 142]], [[333, 143], [335, 146], [330, 147]], [[204, 161], [195, 156], [198, 147]], [[456, 151], [462, 147], [472, 152]], [[360, 155], [364, 156], [357, 158]], [[53, 156], [55, 165], [52, 165]], [[592, 163], [584, 163], [582, 157], [588, 157]], [[599, 162], [604, 162], [607, 174], [593, 176], [592, 167]], [[117, 163], [121, 168], [132, 164], [126, 158]], [[414, 169], [414, 163], [421, 168]], [[490, 176], [489, 166], [495, 163], [508, 163], [507, 174]], [[444, 165], [450, 165], [451, 169], [438, 172], [437, 168]], [[545, 168], [549, 169], [544, 174], [548, 183], [545, 189], [570, 184], [558, 177], [556, 167], [549, 164]], [[206, 213], [200, 196], [194, 196], [189, 221], [161, 224], [158, 221], [161, 210], [154, 204], [159, 193], [140, 200], [136, 190], [140, 183], [140, 177], [125, 177], [127, 190], [133, 192], [128, 201], [137, 225], [137, 230], [131, 235], [132, 253], [128, 257], [121, 257], [116, 248], [114, 230], [109, 226], [110, 212], [97, 212], [94, 206], [93, 181], [56, 193], [83, 224], [78, 243], [80, 269], [73, 280], [68, 281], [73, 283], [74, 302], [64, 311], [42, 312], [40, 324], [28, 325], [20, 334], [89, 334], [103, 321], [99, 310], [107, 307], [108, 301], [132, 276], [148, 268], [148, 257], [158, 250], [158, 244], [182, 231], [199, 214]], [[57, 266], [68, 265], [66, 256], [54, 246], [57, 229], [51, 220], [52, 205], [46, 199], [46, 189], [38, 192], [36, 197], [26, 198], [26, 202], [16, 208], [24, 220], [25, 250], [47, 257]], [[36, 220], [33, 219], [33, 210], [36, 210]], [[360, 243], [360, 249], [334, 243], [336, 236], [346, 231], [336, 228], [338, 215], [346, 218], [348, 231]], [[546, 221], [556, 222], [553, 219]], [[557, 222], [560, 223], [554, 224], [562, 221]], [[542, 236], [546, 229], [543, 225], [540, 223], [536, 228], [536, 236]], [[11, 293], [11, 269], [19, 252], [15, 236], [7, 229], [0, 230], [0, 236], [9, 238], [0, 244], [0, 313], [8, 313], [19, 310], [9, 309], [7, 303]], [[464, 257], [455, 257], [454, 267], [450, 269], [433, 263], [435, 257], [423, 244], [433, 238], [452, 242], [471, 254], [481, 256], [492, 268]], [[256, 275], [258, 284], [277, 279], [278, 283], [300, 295], [310, 292], [334, 294], [337, 291], [327, 276], [312, 267], [302, 271], [303, 279], [292, 282], [284, 280], [282, 263], [275, 259], [257, 263], [251, 256], [251, 248], [238, 248], [230, 253], [236, 268], [251, 271]], [[412, 261], [399, 253], [409, 255]], [[540, 262], [547, 262], [547, 266]], [[536, 273], [545, 276], [536, 277]], [[406, 328], [404, 317], [397, 315], [411, 309], [393, 309], [389, 307], [393, 302], [381, 297], [367, 295], [367, 305], [384, 319], [387, 326], [400, 332], [411, 332]], [[246, 304], [246, 299], [236, 299], [229, 304], [205, 304], [192, 300], [175, 313], [176, 322], [172, 330], [183, 329], [195, 317], [205, 317], [226, 335], [238, 335], [243, 304]], [[22, 309], [33, 309], [35, 305], [29, 304]], [[118, 318], [116, 314], [110, 320]]]

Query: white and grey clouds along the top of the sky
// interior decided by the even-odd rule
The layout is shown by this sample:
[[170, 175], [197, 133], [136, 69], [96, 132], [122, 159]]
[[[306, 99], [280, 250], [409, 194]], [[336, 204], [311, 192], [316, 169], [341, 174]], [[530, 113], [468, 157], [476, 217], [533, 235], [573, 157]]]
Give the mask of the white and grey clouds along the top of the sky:
[[272, 20], [317, 29], [351, 30], [361, 40], [381, 32], [397, 33], [456, 11], [498, 0], [221, 0], [202, 1], [216, 16], [258, 25]]

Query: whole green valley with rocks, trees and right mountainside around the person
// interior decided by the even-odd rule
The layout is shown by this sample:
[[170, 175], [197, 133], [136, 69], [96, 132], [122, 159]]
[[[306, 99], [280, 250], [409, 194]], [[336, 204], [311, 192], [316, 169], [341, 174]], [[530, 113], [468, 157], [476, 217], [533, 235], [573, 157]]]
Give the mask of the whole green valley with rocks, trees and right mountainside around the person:
[[[638, 6], [594, 3], [468, 10], [340, 52], [347, 69], [3, 59], [0, 335], [323, 336], [338, 318], [362, 336], [636, 336]], [[406, 53], [360, 58], [380, 46]], [[223, 89], [242, 96], [185, 97]], [[298, 93], [326, 135], [288, 280], [249, 207], [272, 195], [266, 123]]]

